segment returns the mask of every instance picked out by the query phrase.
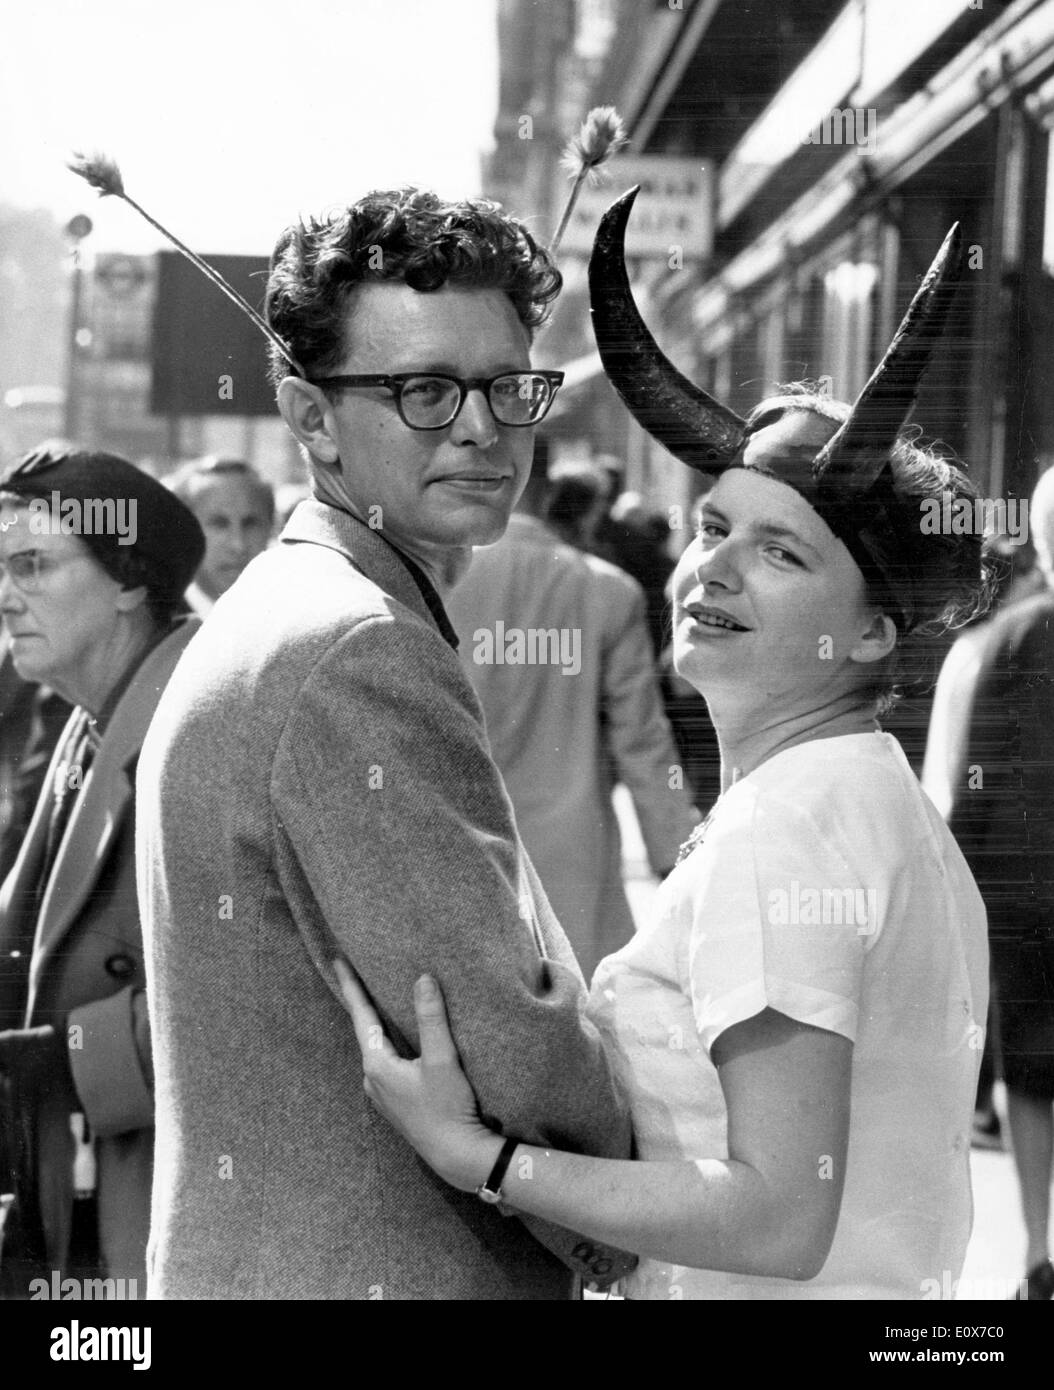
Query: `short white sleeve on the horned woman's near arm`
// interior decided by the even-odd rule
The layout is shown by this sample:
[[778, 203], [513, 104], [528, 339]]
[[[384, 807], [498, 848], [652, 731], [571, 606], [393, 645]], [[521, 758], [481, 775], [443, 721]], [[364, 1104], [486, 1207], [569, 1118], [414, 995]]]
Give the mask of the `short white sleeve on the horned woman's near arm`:
[[[709, 1051], [726, 1029], [776, 1009], [857, 1037], [866, 952], [889, 894], [850, 838], [802, 806], [749, 784], [733, 788], [704, 844], [694, 881], [688, 987]], [[694, 863], [692, 863], [694, 860]]]

